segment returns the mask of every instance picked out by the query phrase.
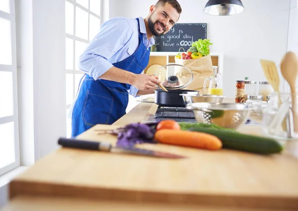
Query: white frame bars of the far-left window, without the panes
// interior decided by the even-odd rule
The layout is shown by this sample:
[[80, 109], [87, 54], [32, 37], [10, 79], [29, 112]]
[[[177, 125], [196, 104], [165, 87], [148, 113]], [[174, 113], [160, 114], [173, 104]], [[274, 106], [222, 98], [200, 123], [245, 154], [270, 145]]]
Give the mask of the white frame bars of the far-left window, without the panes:
[[7, 166], [0, 168], [0, 175], [18, 167], [20, 165], [19, 153], [19, 129], [18, 129], [18, 102], [17, 102], [17, 69], [16, 69], [16, 32], [15, 32], [15, 10], [14, 0], [10, 0], [10, 13], [0, 10], [0, 18], [4, 18], [11, 23], [11, 56], [12, 65], [0, 64], [0, 71], [12, 73], [12, 87], [13, 87], [13, 115], [0, 117], [0, 124], [8, 122], [14, 123], [14, 155], [15, 161]]

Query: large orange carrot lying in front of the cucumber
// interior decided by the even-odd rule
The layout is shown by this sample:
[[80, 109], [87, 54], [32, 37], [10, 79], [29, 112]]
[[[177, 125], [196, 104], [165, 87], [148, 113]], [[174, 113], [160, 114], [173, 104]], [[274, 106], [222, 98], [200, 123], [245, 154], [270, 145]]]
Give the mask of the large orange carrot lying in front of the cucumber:
[[215, 135], [196, 131], [160, 129], [155, 132], [154, 138], [157, 142], [164, 144], [201, 149], [217, 150], [223, 146], [221, 140]]

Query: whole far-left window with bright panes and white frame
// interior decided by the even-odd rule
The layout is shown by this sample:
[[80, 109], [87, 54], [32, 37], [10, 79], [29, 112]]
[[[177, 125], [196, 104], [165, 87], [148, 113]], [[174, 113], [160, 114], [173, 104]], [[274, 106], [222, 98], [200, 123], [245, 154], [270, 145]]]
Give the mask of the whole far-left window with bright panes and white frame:
[[0, 0], [0, 175], [19, 166], [14, 0]]

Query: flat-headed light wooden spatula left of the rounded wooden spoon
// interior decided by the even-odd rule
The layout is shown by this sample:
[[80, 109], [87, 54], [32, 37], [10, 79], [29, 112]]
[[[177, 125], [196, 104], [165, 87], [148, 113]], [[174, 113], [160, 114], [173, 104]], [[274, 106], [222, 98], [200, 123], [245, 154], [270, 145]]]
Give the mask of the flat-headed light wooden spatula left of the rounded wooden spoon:
[[[277, 72], [276, 65], [273, 61], [261, 59], [261, 65], [263, 68], [264, 75], [268, 80], [269, 84], [272, 86], [274, 92], [279, 96], [279, 106], [282, 104], [282, 100], [279, 94], [280, 78]], [[283, 120], [282, 123], [283, 130], [287, 131], [287, 119]]]

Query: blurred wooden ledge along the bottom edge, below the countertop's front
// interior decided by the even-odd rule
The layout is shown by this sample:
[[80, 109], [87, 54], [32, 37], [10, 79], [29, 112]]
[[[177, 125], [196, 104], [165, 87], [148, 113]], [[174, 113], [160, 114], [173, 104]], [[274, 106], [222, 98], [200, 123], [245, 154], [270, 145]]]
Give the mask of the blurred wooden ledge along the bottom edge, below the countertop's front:
[[[272, 209], [198, 206], [191, 204], [132, 203], [53, 196], [18, 196], [1, 211], [272, 211]], [[284, 211], [277, 210], [274, 211]], [[290, 210], [289, 210], [290, 211]], [[292, 210], [297, 211], [297, 210]]]

